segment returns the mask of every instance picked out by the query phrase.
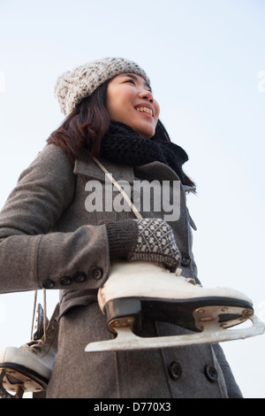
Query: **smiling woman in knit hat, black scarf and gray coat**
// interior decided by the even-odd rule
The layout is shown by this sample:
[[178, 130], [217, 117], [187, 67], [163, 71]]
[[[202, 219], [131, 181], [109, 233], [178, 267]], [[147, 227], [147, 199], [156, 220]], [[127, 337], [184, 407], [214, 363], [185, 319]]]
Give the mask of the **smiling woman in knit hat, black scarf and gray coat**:
[[[102, 311], [114, 261], [155, 262], [171, 273], [181, 267], [186, 285], [200, 283], [185, 197], [194, 184], [182, 170], [186, 152], [170, 143], [139, 65], [103, 58], [79, 66], [58, 79], [56, 95], [66, 119], [21, 174], [0, 216], [2, 292], [61, 290], [57, 356], [47, 397], [241, 397], [216, 344], [85, 352], [87, 343], [111, 338]], [[136, 181], [178, 181], [178, 218], [165, 221], [169, 210], [163, 205], [155, 211], [159, 201], [154, 196], [154, 206], [142, 209], [136, 219], [132, 205], [110, 188], [98, 159], [114, 180], [131, 188]], [[172, 204], [166, 206], [173, 210]], [[126, 279], [121, 291], [130, 288]], [[140, 279], [145, 288], [144, 275]], [[104, 288], [101, 311], [97, 294]], [[135, 331], [161, 336], [185, 333], [179, 325], [189, 329], [190, 312], [173, 322], [167, 312], [165, 318], [154, 313], [143, 313]]]

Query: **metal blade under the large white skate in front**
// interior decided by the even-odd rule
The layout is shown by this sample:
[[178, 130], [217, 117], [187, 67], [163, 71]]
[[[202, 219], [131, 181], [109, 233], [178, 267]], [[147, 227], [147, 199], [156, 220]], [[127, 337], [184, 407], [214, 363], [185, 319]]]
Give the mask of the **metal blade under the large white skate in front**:
[[255, 315], [249, 318], [252, 320], [252, 327], [240, 329], [225, 329], [216, 323], [208, 322], [204, 330], [189, 335], [161, 336], [143, 338], [134, 335], [130, 327], [116, 327], [117, 337], [109, 341], [88, 343], [86, 352], [93, 351], [128, 351], [128, 350], [150, 350], [155, 348], [182, 347], [202, 343], [222, 343], [224, 341], [235, 341], [262, 335], [265, 332], [265, 324]]

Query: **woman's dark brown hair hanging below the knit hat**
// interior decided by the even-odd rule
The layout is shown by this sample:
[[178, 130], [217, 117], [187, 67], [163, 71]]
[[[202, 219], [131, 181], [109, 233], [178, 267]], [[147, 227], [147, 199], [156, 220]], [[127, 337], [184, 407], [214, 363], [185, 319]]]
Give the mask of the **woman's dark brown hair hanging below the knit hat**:
[[[100, 153], [102, 137], [110, 127], [106, 110], [108, 82], [105, 81], [91, 96], [84, 98], [47, 140], [47, 143], [61, 147], [72, 165], [77, 158], [89, 161]], [[152, 140], [170, 142], [170, 136], [160, 120]], [[194, 186], [186, 173], [183, 183]]]

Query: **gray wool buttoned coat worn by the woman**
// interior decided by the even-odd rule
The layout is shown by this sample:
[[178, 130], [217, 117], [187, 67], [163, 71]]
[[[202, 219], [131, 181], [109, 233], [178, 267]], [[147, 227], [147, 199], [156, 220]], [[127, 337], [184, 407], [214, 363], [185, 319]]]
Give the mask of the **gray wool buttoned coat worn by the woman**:
[[[101, 159], [102, 160], [102, 159]], [[178, 181], [159, 162], [137, 168], [102, 160], [116, 180]], [[0, 213], [0, 292], [60, 289], [58, 351], [47, 397], [242, 397], [218, 344], [149, 351], [85, 352], [87, 343], [110, 339], [96, 301], [110, 271], [104, 221], [135, 218], [131, 211], [87, 211], [87, 186], [105, 177], [95, 162], [76, 161], [46, 146], [20, 175]], [[87, 185], [88, 184], [88, 185]], [[104, 192], [103, 192], [104, 196]], [[117, 193], [113, 192], [113, 197]], [[162, 212], [142, 212], [149, 218]], [[183, 254], [183, 274], [197, 280], [191, 220], [180, 186], [180, 217], [170, 222]], [[142, 335], [179, 335], [167, 323], [144, 322]]]

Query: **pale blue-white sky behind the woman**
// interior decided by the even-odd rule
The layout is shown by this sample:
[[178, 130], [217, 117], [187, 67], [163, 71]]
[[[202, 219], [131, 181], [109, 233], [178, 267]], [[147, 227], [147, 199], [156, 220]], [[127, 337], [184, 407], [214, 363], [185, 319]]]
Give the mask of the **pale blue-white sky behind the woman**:
[[[201, 281], [245, 292], [265, 319], [264, 18], [263, 0], [0, 0], [0, 206], [64, 119], [57, 76], [132, 59], [189, 155]], [[49, 315], [57, 296], [48, 293]], [[29, 341], [33, 301], [0, 297], [0, 348]], [[223, 343], [245, 397], [265, 397], [264, 347], [265, 336]]]

